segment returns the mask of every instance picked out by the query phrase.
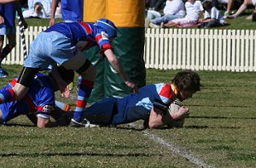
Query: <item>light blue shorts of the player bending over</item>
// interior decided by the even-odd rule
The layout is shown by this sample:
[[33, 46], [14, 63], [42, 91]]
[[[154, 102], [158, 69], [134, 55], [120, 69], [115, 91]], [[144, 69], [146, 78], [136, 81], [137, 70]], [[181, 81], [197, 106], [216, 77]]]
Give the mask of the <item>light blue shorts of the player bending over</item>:
[[32, 42], [24, 66], [47, 70], [49, 65], [63, 64], [77, 52], [67, 36], [56, 31], [42, 32]]

